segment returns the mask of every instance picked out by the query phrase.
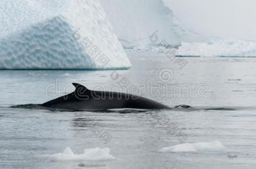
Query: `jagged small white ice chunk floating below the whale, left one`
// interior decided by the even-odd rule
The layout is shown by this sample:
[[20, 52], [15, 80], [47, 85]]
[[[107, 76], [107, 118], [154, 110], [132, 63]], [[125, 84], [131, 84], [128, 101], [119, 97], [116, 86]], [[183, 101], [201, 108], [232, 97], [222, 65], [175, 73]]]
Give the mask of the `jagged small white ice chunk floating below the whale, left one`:
[[48, 157], [50, 161], [103, 161], [115, 160], [115, 157], [110, 155], [109, 148], [94, 148], [85, 149], [84, 154], [74, 154], [73, 151], [67, 147], [63, 153], [52, 154]]

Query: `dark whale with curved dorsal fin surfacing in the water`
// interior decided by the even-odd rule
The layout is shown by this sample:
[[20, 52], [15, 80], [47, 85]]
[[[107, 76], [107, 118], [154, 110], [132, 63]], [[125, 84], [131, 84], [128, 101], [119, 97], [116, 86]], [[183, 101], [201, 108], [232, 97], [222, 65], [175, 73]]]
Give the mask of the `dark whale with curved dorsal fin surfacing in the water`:
[[93, 91], [79, 83], [72, 83], [75, 91], [47, 101], [39, 106], [67, 111], [104, 111], [110, 109], [172, 109], [157, 101], [131, 93]]

